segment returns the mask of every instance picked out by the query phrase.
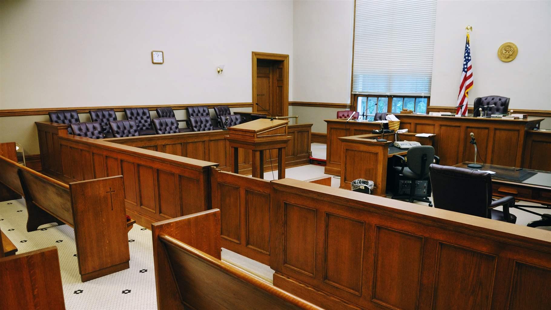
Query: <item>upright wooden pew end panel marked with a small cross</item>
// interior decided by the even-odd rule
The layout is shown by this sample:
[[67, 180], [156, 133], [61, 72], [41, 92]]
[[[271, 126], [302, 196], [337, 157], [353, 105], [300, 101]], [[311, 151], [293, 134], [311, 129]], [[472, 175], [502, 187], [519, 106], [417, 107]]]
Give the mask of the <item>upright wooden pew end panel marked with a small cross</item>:
[[122, 176], [69, 183], [82, 281], [129, 268]]

